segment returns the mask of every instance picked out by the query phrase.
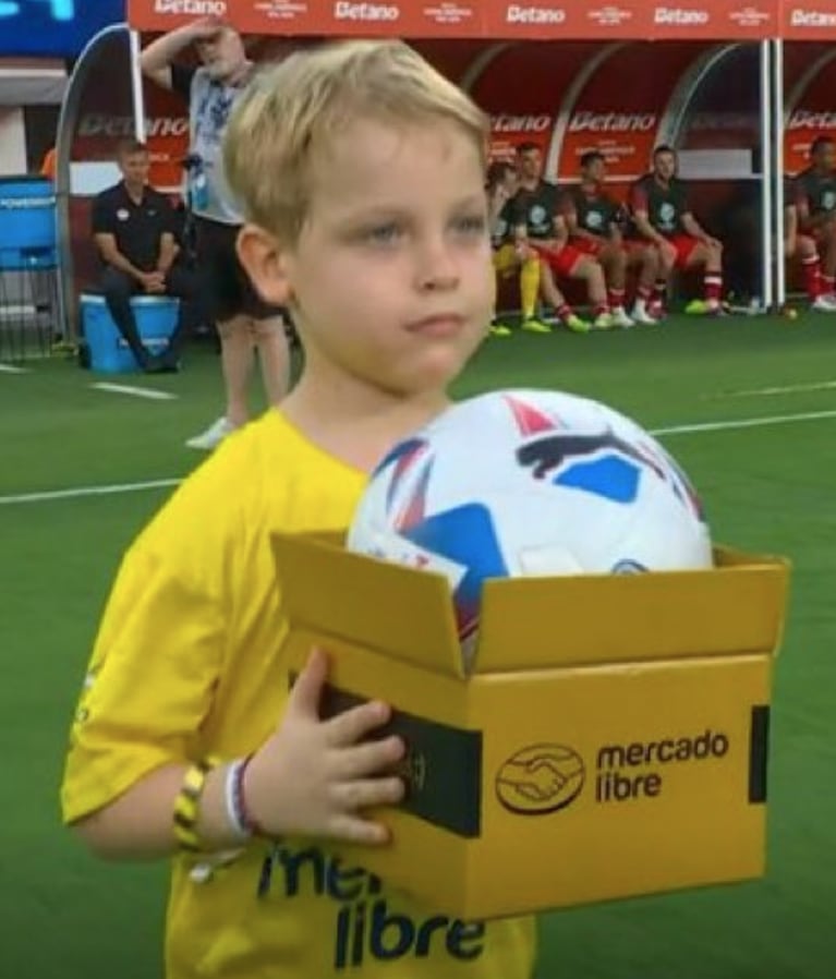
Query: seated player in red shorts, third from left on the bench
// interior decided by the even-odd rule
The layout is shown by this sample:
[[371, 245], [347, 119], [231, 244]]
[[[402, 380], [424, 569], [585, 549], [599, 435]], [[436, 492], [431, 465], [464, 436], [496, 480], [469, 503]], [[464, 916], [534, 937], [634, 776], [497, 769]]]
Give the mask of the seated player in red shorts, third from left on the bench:
[[[581, 182], [562, 196], [560, 211], [569, 230], [569, 243], [597, 258], [607, 282], [609, 307], [616, 326], [655, 323], [647, 305], [659, 265], [658, 251], [651, 244], [634, 242], [628, 249], [622, 227], [625, 213], [618, 201], [604, 189], [606, 160], [598, 150], [581, 157]], [[639, 285], [632, 314], [625, 310], [628, 268], [635, 267]]]

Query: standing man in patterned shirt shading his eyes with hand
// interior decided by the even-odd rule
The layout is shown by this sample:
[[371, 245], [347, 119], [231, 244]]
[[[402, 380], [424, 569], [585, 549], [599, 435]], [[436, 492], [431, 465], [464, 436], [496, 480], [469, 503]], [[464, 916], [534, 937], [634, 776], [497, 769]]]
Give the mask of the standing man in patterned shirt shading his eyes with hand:
[[[202, 61], [197, 69], [175, 63], [191, 45]], [[244, 219], [227, 185], [221, 156], [227, 121], [246, 88], [253, 63], [238, 32], [216, 17], [202, 17], [153, 41], [140, 63], [144, 74], [189, 102], [197, 262], [220, 335], [227, 404], [225, 413], [186, 445], [210, 450], [249, 419], [247, 388], [256, 349], [269, 402], [278, 404], [289, 386], [284, 318], [256, 293], [238, 259], [235, 242]]]

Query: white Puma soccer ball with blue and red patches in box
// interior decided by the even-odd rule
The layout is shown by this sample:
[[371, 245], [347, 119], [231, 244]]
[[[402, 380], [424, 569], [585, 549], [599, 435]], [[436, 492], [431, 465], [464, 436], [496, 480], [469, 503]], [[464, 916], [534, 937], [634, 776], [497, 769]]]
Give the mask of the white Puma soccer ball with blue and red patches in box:
[[348, 547], [446, 575], [465, 648], [485, 579], [712, 565], [700, 500], [665, 449], [604, 404], [544, 390], [472, 398], [395, 446]]

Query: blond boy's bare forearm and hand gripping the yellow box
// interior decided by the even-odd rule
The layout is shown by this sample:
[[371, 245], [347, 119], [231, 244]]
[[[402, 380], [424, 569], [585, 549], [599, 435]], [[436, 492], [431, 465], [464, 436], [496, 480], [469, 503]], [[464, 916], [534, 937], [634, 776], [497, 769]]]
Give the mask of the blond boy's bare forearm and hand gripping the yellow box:
[[[376, 701], [320, 721], [327, 673], [326, 657], [312, 654], [291, 691], [284, 718], [247, 764], [245, 808], [267, 836], [386, 843], [386, 827], [362, 811], [395, 805], [403, 797], [402, 781], [380, 774], [402, 758], [403, 742], [397, 737], [364, 741], [389, 720], [389, 709]], [[109, 859], [147, 859], [175, 851], [174, 803], [186, 771], [186, 764], [169, 764], [150, 772], [75, 827], [95, 854]], [[209, 851], [242, 843], [227, 813], [229, 771], [229, 764], [213, 769], [201, 796], [197, 835]]]

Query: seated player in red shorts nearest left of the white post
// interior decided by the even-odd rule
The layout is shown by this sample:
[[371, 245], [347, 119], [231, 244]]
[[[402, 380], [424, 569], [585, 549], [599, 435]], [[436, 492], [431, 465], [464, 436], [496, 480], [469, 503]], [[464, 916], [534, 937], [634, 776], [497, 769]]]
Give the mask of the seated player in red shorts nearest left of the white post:
[[691, 311], [720, 314], [723, 244], [703, 230], [691, 211], [688, 189], [677, 177], [678, 160], [670, 146], [653, 152], [653, 169], [635, 184], [630, 207], [639, 238], [656, 245], [659, 278], [654, 309], [664, 315], [667, 281], [674, 269], [703, 269], [704, 300]]

